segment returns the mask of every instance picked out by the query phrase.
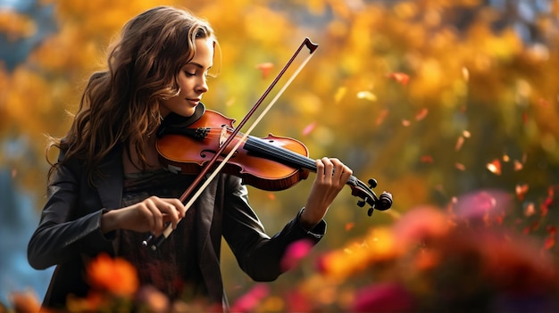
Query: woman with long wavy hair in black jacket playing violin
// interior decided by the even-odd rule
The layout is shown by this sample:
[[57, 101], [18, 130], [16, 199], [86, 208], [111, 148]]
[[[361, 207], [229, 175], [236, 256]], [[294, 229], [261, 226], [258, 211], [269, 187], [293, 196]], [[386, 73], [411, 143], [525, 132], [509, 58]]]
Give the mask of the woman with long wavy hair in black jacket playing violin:
[[[188, 210], [177, 199], [193, 177], [163, 169], [155, 134], [171, 116], [188, 124], [204, 112], [200, 100], [216, 45], [206, 21], [155, 7], [124, 26], [108, 70], [89, 79], [68, 134], [49, 144], [60, 156], [29, 241], [33, 268], [56, 266], [45, 307], [63, 307], [69, 294], [85, 296], [84, 269], [104, 252], [128, 259], [141, 284], [171, 299], [202, 298], [227, 309], [221, 236], [249, 276], [271, 281], [284, 270], [280, 260], [290, 243], [317, 243], [324, 235], [322, 218], [352, 174], [337, 159], [316, 161], [304, 209], [273, 237], [264, 233], [238, 177], [220, 174]], [[141, 247], [146, 234], [161, 234], [167, 223], [175, 229], [157, 251]]]

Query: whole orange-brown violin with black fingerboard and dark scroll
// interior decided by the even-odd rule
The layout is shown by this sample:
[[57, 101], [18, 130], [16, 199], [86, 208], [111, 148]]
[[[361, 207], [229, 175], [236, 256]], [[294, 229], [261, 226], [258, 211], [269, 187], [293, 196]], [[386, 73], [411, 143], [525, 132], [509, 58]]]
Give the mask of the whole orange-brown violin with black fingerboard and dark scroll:
[[[235, 119], [217, 111], [205, 110], [202, 104], [199, 108], [196, 110], [196, 121], [187, 128], [163, 127], [158, 132], [156, 149], [160, 161], [173, 173], [199, 174], [235, 129]], [[242, 143], [238, 143], [239, 140]], [[222, 155], [217, 157], [217, 161], [221, 162], [223, 156], [239, 144], [221, 172], [241, 177], [243, 184], [266, 191], [281, 191], [306, 179], [311, 171], [316, 172], [307, 147], [296, 139], [269, 134], [263, 138], [247, 136], [243, 140], [242, 134], [237, 133], [229, 142], [221, 149]], [[346, 185], [351, 187], [353, 195], [361, 199], [357, 202], [360, 207], [370, 205], [369, 216], [375, 209], [388, 210], [392, 205], [391, 194], [384, 192], [377, 197], [372, 191], [377, 185], [375, 179], [369, 179], [369, 185], [365, 185], [351, 176]]]

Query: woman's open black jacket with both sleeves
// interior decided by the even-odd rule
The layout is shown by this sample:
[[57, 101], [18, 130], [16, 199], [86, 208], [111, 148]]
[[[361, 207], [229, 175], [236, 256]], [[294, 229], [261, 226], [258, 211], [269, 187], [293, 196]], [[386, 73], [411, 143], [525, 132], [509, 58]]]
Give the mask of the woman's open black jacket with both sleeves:
[[[64, 158], [63, 153], [59, 161]], [[37, 230], [28, 246], [29, 264], [44, 269], [56, 266], [43, 305], [61, 308], [68, 294], [87, 295], [85, 266], [100, 252], [118, 256], [119, 232], [103, 235], [100, 221], [104, 210], [121, 207], [123, 169], [122, 149], [115, 149], [101, 166], [103, 177], [88, 184], [86, 168], [68, 160], [48, 185], [48, 200]], [[308, 238], [318, 243], [326, 231], [321, 221], [307, 232], [292, 219], [280, 233], [270, 237], [247, 202], [247, 190], [238, 177], [216, 177], [196, 203], [198, 264], [210, 301], [228, 303], [220, 270], [221, 235], [238, 259], [238, 264], [255, 281], [275, 280], [282, 272], [280, 260], [290, 243]], [[298, 217], [298, 216], [297, 216]], [[138, 249], [144, 249], [138, 243]]]

